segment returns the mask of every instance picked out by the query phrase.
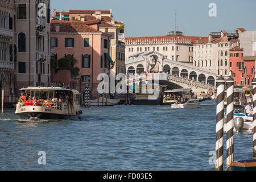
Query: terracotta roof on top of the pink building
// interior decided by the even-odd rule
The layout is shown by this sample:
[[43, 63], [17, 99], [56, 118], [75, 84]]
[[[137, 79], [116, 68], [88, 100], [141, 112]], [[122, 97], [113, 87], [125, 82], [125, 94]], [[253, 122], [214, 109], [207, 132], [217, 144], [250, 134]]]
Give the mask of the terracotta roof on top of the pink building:
[[94, 32], [101, 33], [92, 27], [86, 25], [85, 22], [80, 21], [64, 21], [64, 20], [52, 20], [51, 21], [51, 32], [56, 32], [55, 26], [59, 24], [60, 32], [76, 33], [76, 32]]

